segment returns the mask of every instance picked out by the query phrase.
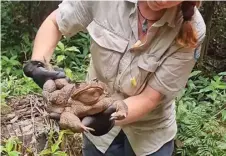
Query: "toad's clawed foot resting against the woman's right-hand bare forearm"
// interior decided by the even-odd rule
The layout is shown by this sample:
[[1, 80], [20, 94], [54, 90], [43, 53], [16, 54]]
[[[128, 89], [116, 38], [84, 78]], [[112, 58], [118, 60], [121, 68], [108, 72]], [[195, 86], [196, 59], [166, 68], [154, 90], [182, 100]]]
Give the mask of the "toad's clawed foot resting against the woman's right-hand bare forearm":
[[110, 120], [123, 120], [127, 117], [128, 106], [124, 101], [115, 101], [112, 105], [116, 108], [116, 112], [111, 114]]

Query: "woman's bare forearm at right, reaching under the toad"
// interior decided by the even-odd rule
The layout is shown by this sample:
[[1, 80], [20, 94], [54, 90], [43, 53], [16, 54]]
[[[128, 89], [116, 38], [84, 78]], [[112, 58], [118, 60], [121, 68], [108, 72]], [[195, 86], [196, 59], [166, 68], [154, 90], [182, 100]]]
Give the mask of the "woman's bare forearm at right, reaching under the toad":
[[128, 116], [124, 120], [117, 120], [115, 124], [122, 126], [138, 121], [158, 105], [161, 97], [159, 92], [147, 87], [140, 95], [125, 99], [124, 102], [128, 106]]

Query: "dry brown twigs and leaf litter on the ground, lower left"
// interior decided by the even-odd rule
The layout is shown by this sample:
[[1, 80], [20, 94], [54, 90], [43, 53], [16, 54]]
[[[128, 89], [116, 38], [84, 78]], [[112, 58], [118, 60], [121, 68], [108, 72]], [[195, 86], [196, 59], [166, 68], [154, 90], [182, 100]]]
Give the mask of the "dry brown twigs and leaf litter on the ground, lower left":
[[[60, 129], [56, 121], [48, 118], [43, 98], [34, 94], [14, 97], [8, 100], [7, 105], [9, 107], [1, 108], [1, 144], [4, 144], [4, 139], [16, 136], [22, 147], [32, 150], [32, 155], [48, 148], [49, 132], [54, 130], [58, 134]], [[62, 150], [71, 156], [81, 156], [81, 141], [79, 133], [67, 135], [62, 141]]]

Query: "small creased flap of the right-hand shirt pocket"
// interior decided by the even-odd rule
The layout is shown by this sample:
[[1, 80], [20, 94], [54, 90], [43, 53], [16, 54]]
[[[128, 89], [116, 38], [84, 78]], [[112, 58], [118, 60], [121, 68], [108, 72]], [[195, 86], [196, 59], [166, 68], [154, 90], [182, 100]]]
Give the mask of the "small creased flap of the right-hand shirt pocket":
[[159, 59], [153, 54], [142, 54], [138, 59], [138, 66], [148, 72], [155, 72], [159, 66]]

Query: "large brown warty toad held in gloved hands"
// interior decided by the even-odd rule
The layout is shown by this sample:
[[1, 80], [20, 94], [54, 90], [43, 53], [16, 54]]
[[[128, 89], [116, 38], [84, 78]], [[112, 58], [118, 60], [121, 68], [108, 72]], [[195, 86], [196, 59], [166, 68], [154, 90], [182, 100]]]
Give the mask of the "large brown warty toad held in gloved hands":
[[128, 113], [127, 105], [108, 95], [107, 87], [98, 81], [72, 84], [66, 79], [48, 80], [43, 86], [43, 97], [48, 103], [50, 116], [60, 116], [60, 127], [74, 132], [94, 131], [81, 119], [109, 107], [116, 111], [111, 114], [112, 120], [122, 120]]

